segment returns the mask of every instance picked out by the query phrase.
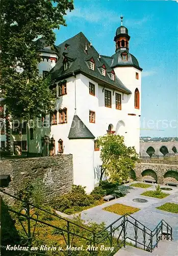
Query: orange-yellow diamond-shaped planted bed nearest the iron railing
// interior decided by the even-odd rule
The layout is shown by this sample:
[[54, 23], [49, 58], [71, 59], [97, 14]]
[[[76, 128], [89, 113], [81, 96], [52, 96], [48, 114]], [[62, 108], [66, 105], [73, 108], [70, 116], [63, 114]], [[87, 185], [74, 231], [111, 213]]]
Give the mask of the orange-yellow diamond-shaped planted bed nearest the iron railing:
[[114, 212], [114, 214], [124, 215], [124, 214], [134, 214], [134, 212], [139, 211], [139, 208], [131, 207], [124, 204], [113, 204], [103, 208], [103, 210]]

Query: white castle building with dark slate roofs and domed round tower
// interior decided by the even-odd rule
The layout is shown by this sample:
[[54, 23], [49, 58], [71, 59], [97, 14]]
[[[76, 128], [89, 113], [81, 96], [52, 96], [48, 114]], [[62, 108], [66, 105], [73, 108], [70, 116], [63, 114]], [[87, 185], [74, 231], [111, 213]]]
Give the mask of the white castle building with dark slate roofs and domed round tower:
[[55, 80], [56, 110], [24, 135], [10, 132], [10, 150], [17, 141], [22, 147], [23, 140], [21, 149], [29, 153], [72, 154], [74, 184], [88, 193], [99, 178], [97, 137], [123, 135], [139, 154], [142, 69], [129, 52], [129, 39], [128, 29], [120, 26], [112, 56], [100, 55], [82, 32], [55, 50], [41, 49], [39, 75], [50, 71]]

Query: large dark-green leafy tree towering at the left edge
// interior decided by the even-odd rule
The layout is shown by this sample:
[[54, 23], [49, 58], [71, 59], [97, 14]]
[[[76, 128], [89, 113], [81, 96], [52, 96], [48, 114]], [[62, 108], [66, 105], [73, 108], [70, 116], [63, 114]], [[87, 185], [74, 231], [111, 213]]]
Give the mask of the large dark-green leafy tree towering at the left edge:
[[1, 97], [14, 117], [33, 119], [54, 109], [50, 77], [38, 77], [39, 48], [53, 46], [54, 29], [66, 26], [73, 0], [1, 0]]

